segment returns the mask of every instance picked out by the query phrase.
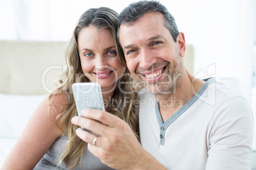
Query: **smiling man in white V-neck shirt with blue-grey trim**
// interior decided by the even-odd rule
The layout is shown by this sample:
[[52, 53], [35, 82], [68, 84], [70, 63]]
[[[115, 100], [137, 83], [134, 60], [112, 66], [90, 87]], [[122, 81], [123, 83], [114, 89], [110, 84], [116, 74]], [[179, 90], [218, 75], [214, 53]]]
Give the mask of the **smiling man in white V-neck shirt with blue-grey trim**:
[[115, 169], [250, 169], [250, 106], [214, 78], [199, 80], [187, 72], [185, 37], [166, 8], [139, 1], [118, 19], [127, 67], [147, 90], [139, 94], [143, 148], [124, 122], [85, 110], [87, 118], [74, 123], [100, 135], [76, 131], [90, 152]]

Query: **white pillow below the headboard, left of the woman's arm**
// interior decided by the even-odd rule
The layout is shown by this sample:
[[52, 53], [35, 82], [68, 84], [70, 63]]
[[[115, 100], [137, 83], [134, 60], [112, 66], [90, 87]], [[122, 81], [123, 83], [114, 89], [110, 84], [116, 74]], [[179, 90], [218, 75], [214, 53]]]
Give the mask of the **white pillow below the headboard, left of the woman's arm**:
[[0, 138], [18, 138], [45, 95], [5, 95], [0, 93]]

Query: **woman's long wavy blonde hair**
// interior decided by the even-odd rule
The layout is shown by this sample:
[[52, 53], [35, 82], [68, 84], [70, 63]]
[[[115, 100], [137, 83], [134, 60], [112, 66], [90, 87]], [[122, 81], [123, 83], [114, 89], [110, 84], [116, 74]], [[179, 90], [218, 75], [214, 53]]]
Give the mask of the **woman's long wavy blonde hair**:
[[[62, 108], [56, 118], [56, 124], [62, 129], [64, 136], [68, 137], [68, 142], [62, 151], [59, 164], [64, 162], [68, 169], [73, 169], [78, 162], [82, 163], [82, 155], [87, 146], [87, 143], [76, 136], [76, 129], [78, 127], [71, 123], [71, 118], [78, 115], [74, 97], [70, 95], [72, 93], [71, 86], [75, 82], [89, 82], [89, 79], [83, 74], [81, 67], [78, 53], [78, 36], [83, 28], [90, 25], [96, 26], [99, 30], [109, 29], [115, 40], [118, 60], [126, 67], [124, 53], [117, 39], [117, 16], [118, 14], [115, 11], [105, 7], [92, 8], [83, 13], [66, 49], [66, 63], [68, 67], [60, 76], [61, 79], [57, 81], [56, 90], [48, 96], [49, 102], [50, 97], [54, 97], [55, 94], [67, 93], [69, 97], [69, 103]], [[108, 112], [117, 115], [120, 119], [127, 122], [139, 140], [138, 117], [134, 113], [135, 106], [132, 104], [132, 101], [136, 100], [136, 95], [132, 88], [132, 77], [128, 69], [125, 69], [124, 75], [118, 81], [125, 83], [119, 83], [118, 88], [115, 89]], [[120, 89], [125, 93], [122, 93]], [[127, 102], [127, 100], [129, 101]]]

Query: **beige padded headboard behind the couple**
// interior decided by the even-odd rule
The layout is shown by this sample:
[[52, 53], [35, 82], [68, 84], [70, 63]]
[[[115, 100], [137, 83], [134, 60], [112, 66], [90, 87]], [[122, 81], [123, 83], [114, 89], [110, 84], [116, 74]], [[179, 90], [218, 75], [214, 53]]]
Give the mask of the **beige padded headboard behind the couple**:
[[[0, 41], [0, 93], [45, 95], [65, 64], [64, 49], [68, 42]], [[186, 46], [184, 57], [188, 72], [193, 74], [193, 48]]]

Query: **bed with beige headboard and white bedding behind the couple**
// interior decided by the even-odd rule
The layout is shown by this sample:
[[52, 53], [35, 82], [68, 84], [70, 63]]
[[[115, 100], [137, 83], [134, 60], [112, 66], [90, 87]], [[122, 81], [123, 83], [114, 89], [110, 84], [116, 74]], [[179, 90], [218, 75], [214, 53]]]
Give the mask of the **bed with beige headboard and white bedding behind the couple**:
[[[68, 42], [0, 41], [0, 168], [26, 122], [65, 67]], [[184, 62], [193, 74], [194, 52]]]

